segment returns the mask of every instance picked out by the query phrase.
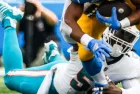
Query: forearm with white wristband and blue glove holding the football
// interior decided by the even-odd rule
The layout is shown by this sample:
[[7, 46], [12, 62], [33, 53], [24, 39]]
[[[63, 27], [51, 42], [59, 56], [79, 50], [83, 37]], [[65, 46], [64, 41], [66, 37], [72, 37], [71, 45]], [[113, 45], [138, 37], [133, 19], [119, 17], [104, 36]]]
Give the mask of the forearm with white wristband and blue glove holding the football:
[[110, 25], [112, 29], [125, 28], [130, 25], [135, 25], [140, 22], [140, 0], [131, 0], [131, 2], [136, 6], [136, 11], [133, 12], [130, 16], [125, 17], [123, 20], [119, 21], [116, 14], [116, 9], [112, 9], [112, 15], [110, 18], [105, 18], [96, 12], [96, 18], [103, 24]]

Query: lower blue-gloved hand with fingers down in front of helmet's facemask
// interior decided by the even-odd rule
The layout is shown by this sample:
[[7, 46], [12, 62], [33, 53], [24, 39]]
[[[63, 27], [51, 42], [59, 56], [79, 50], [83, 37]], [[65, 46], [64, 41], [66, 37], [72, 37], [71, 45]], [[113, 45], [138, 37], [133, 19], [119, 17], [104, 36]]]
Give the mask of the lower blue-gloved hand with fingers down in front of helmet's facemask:
[[101, 62], [105, 62], [105, 57], [110, 57], [109, 53], [112, 52], [111, 49], [109, 48], [109, 45], [107, 43], [105, 43], [103, 40], [95, 40], [95, 39], [92, 39], [89, 42], [87, 48]]

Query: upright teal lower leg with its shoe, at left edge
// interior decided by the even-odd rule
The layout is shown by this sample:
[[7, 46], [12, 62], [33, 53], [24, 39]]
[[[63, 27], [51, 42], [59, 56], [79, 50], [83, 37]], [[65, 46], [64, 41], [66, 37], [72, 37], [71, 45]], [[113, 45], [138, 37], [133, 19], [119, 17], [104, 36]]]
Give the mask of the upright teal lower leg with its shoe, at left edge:
[[0, 13], [4, 27], [3, 61], [5, 73], [7, 73], [10, 70], [22, 68], [22, 53], [15, 27], [23, 14], [2, 1], [0, 1]]

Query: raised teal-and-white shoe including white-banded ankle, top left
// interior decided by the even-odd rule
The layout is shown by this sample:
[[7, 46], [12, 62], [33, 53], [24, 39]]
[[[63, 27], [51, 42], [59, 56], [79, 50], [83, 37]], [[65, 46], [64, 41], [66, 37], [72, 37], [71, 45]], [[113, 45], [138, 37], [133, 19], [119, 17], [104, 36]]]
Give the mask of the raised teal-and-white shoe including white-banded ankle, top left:
[[11, 7], [7, 3], [0, 1], [0, 20], [4, 28], [16, 28], [16, 23], [23, 17], [23, 12], [16, 8]]

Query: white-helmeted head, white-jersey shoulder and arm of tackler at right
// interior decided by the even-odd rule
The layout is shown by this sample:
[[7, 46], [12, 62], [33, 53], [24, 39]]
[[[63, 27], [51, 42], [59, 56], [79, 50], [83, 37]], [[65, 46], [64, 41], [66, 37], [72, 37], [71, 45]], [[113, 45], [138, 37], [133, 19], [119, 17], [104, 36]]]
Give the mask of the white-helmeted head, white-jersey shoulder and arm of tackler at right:
[[110, 44], [111, 56], [106, 58], [105, 74], [115, 83], [122, 83], [122, 89], [111, 83], [103, 94], [139, 94], [140, 93], [140, 57], [132, 50], [139, 39], [136, 26], [113, 30], [107, 28], [103, 39]]

